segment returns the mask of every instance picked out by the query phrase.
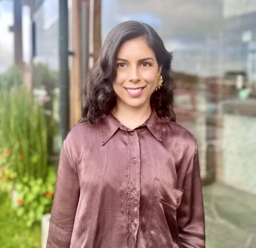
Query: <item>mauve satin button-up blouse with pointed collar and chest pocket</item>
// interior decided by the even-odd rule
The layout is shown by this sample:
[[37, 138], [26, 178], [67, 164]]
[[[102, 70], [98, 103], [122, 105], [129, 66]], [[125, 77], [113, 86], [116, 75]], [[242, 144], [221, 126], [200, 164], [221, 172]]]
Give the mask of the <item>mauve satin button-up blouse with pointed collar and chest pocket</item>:
[[131, 130], [111, 113], [63, 142], [47, 247], [205, 247], [194, 136], [155, 111]]

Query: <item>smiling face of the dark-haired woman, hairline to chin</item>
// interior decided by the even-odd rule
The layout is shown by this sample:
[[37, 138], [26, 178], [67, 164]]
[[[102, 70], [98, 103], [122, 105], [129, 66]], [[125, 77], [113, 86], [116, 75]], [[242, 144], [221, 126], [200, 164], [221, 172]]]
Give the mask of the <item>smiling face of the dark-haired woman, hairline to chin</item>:
[[113, 88], [117, 105], [150, 107], [150, 97], [157, 86], [158, 66], [154, 51], [143, 38], [124, 42], [117, 53], [117, 76]]

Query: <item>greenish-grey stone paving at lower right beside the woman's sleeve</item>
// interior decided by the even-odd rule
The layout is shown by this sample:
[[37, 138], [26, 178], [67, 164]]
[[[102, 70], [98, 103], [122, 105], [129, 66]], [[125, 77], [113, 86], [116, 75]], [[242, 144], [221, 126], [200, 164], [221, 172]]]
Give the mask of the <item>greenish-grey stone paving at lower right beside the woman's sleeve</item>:
[[256, 247], [256, 195], [214, 183], [203, 197], [206, 248]]

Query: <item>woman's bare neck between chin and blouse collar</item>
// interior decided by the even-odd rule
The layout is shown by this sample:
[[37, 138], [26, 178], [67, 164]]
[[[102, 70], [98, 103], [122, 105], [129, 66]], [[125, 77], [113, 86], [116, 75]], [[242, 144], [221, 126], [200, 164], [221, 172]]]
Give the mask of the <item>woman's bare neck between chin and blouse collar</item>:
[[116, 105], [111, 113], [127, 128], [135, 129], [144, 123], [151, 115], [150, 104], [140, 107]]

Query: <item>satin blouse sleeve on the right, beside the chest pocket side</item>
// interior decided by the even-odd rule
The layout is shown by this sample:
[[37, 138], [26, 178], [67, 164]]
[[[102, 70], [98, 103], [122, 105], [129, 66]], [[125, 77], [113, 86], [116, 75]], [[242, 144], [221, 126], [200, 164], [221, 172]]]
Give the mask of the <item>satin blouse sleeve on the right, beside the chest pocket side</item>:
[[[185, 159], [186, 160], [186, 159]], [[205, 247], [205, 219], [200, 178], [198, 147], [187, 161], [183, 196], [177, 210], [181, 247]]]

